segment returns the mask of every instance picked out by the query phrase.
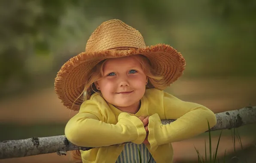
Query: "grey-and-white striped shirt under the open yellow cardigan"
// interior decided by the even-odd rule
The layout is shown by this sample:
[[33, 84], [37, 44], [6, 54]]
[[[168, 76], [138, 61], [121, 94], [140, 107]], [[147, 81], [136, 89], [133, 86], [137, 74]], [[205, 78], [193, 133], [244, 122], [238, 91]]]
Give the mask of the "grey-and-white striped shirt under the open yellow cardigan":
[[[140, 155], [139, 155], [139, 149]], [[156, 163], [145, 144], [126, 143], [116, 163]], [[151, 159], [150, 159], [151, 157]], [[150, 159], [150, 162], [149, 162]]]

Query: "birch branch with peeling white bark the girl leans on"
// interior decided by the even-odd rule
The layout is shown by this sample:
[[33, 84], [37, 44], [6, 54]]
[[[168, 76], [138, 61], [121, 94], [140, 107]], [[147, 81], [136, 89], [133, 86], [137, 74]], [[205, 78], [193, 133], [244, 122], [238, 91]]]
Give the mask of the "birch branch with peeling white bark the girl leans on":
[[[256, 106], [217, 113], [216, 119], [217, 124], [211, 128], [210, 131], [232, 129], [247, 124], [253, 124], [256, 123]], [[175, 120], [163, 120], [162, 124], [170, 124], [173, 121]], [[0, 142], [0, 159], [26, 157], [55, 152], [57, 152], [58, 155], [66, 155], [66, 151], [73, 151], [77, 149], [87, 151], [92, 149], [92, 147], [78, 147], [73, 145], [64, 135], [7, 140]]]

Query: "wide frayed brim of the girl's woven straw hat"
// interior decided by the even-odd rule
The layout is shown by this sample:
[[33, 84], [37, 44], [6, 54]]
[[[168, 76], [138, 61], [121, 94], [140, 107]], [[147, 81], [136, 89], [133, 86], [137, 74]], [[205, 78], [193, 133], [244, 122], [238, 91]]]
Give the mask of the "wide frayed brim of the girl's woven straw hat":
[[[182, 54], [170, 45], [158, 44], [129, 50], [82, 52], [61, 66], [55, 78], [55, 92], [68, 109], [79, 110], [83, 102], [84, 83], [91, 69], [102, 60], [141, 54], [147, 57], [157, 75], [164, 77], [164, 88], [175, 82], [185, 69]], [[90, 91], [89, 91], [90, 92]], [[78, 98], [79, 97], [79, 98]]]

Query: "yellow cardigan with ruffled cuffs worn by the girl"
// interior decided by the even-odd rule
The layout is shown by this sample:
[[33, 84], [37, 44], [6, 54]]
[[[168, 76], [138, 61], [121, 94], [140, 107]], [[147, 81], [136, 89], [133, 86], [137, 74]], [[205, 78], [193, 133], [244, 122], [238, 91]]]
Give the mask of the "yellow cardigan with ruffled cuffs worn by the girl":
[[[171, 142], [192, 138], [216, 124], [214, 113], [206, 107], [185, 102], [164, 91], [147, 89], [136, 114], [122, 112], [94, 93], [82, 103], [79, 113], [66, 127], [67, 139], [82, 147], [99, 147], [81, 151], [83, 163], [115, 163], [123, 142], [141, 144], [146, 131], [139, 116], [149, 117], [150, 145], [146, 145], [157, 163], [172, 163]], [[161, 120], [175, 119], [163, 125]], [[110, 146], [112, 145], [112, 146]]]

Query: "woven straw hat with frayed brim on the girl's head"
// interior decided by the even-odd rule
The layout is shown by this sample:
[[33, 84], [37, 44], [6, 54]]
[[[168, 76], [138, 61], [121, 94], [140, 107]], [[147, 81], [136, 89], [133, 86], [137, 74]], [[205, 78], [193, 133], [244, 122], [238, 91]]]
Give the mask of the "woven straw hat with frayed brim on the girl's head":
[[[91, 69], [107, 58], [135, 54], [146, 56], [158, 75], [164, 76], [165, 88], [176, 81], [185, 69], [185, 60], [176, 49], [165, 44], [146, 47], [138, 30], [114, 19], [105, 21], [97, 27], [89, 37], [85, 51], [70, 58], [61, 66], [55, 78], [55, 92], [64, 106], [79, 110], [83, 102], [82, 96], [79, 96], [83, 92], [85, 80]], [[154, 86], [148, 83], [147, 88]], [[94, 92], [89, 88], [88, 93], [90, 96]]]

